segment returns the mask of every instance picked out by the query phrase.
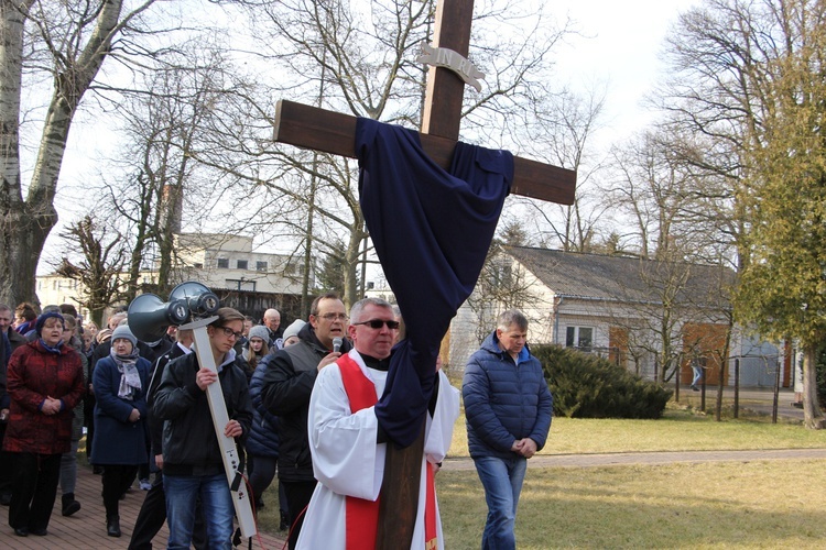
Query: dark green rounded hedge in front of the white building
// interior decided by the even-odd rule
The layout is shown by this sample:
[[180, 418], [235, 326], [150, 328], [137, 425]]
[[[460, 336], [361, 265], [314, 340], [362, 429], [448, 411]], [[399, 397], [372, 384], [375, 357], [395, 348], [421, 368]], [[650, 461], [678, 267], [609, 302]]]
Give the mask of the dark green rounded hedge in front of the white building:
[[673, 394], [590, 353], [531, 348], [554, 396], [554, 415], [569, 418], [660, 418]]

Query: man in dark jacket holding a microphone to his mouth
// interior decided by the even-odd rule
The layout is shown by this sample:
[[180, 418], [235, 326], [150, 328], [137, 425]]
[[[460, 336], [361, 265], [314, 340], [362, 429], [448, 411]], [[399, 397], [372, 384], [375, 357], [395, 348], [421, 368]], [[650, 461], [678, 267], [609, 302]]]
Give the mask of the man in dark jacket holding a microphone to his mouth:
[[[298, 332], [300, 342], [262, 360], [267, 367], [261, 382], [261, 402], [279, 417], [278, 471], [293, 521], [291, 550], [298, 540], [303, 510], [316, 484], [307, 439], [309, 394], [318, 372], [350, 351], [350, 343], [345, 339], [346, 311], [337, 295], [319, 296], [309, 308], [309, 322]], [[338, 350], [334, 350], [334, 339], [341, 340]]]

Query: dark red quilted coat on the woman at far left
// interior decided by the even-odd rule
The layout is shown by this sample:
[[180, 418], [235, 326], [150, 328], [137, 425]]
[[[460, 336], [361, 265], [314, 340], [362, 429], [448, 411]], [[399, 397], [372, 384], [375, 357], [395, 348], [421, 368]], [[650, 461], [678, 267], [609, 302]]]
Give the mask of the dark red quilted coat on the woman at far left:
[[[53, 352], [40, 340], [29, 342], [11, 354], [7, 388], [11, 405], [3, 450], [37, 454], [68, 452], [73, 409], [85, 391], [80, 355], [68, 345]], [[46, 397], [63, 403], [59, 413], [41, 413]]]

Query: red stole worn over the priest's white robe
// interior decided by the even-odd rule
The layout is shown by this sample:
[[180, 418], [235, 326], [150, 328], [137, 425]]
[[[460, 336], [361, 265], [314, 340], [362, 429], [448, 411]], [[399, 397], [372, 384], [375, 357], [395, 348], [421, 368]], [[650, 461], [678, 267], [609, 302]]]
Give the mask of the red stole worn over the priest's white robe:
[[[372, 407], [378, 403], [376, 386], [365, 376], [358, 363], [350, 355], [341, 355], [338, 361], [341, 372], [341, 382], [345, 393], [350, 400], [350, 413]], [[433, 466], [426, 463], [426, 487], [425, 495], [425, 549], [437, 548], [436, 534], [436, 492], [433, 480]], [[379, 495], [381, 498], [381, 495]], [[346, 497], [346, 549], [347, 550], [374, 550], [376, 537], [379, 527], [379, 498], [376, 502], [355, 496]]]

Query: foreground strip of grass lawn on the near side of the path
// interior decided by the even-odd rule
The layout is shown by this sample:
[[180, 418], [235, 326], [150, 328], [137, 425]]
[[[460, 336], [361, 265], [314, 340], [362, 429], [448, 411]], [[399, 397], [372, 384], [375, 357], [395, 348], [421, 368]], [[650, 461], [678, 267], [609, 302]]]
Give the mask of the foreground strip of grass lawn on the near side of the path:
[[[518, 548], [824, 548], [825, 462], [529, 469]], [[437, 485], [445, 547], [478, 549], [476, 472]]]

